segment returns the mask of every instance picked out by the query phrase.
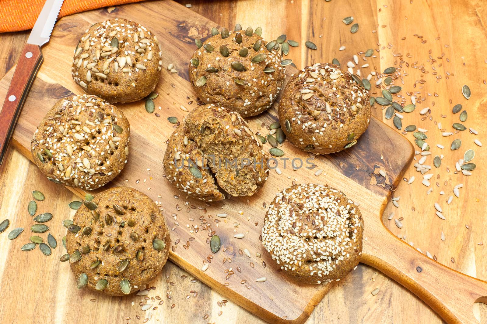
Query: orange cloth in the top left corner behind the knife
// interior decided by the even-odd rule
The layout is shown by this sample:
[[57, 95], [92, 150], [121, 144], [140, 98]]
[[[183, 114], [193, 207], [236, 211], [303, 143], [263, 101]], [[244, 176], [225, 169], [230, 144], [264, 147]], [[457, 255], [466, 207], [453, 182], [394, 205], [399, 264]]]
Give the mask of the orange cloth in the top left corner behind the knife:
[[[142, 0], [64, 0], [58, 19], [78, 12]], [[45, 0], [0, 0], [0, 33], [32, 29]]]

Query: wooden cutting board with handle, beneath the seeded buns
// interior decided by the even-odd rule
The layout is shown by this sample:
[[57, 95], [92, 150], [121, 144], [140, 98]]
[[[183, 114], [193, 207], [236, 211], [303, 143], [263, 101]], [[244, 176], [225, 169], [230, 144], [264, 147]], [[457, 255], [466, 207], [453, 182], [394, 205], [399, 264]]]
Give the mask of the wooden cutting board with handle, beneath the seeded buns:
[[[291, 186], [293, 181], [328, 184], [342, 190], [360, 204], [359, 208], [365, 219], [362, 262], [412, 290], [445, 320], [455, 323], [475, 321], [472, 304], [476, 301], [487, 301], [483, 297], [487, 295], [487, 284], [454, 272], [418, 253], [395, 238], [380, 221], [393, 188], [411, 162], [414, 151], [408, 140], [375, 118], [354, 147], [341, 153], [316, 157], [313, 163], [317, 167], [313, 170], [301, 168], [293, 171], [289, 167], [283, 168], [281, 161], [279, 168], [282, 173], [271, 171], [265, 186], [248, 199], [232, 198], [207, 205], [187, 199], [169, 184], [163, 177], [162, 167], [166, 140], [173, 131], [173, 125], [167, 121], [167, 117], [175, 116], [181, 120], [187, 114], [180, 108], [181, 105], [187, 110], [195, 107], [195, 94], [187, 81], [187, 65], [196, 49], [194, 39], [206, 38], [211, 27], [215, 26], [205, 17], [175, 2], [148, 1], [120, 6], [112, 12], [100, 9], [60, 19], [50, 42], [42, 49], [44, 63], [25, 102], [13, 136], [12, 143], [17, 149], [31, 158], [30, 139], [40, 119], [59, 98], [72, 92], [82, 93], [82, 89], [71, 78], [71, 62], [76, 43], [90, 25], [113, 17], [131, 19], [148, 27], [157, 35], [161, 44], [163, 66], [172, 63], [178, 69], [175, 74], [162, 71], [161, 81], [156, 88], [159, 97], [154, 100], [156, 113], [160, 117], [148, 114], [143, 101], [117, 104], [131, 122], [132, 143], [126, 168], [109, 184], [141, 190], [161, 205], [169, 228], [172, 228], [173, 250], [169, 257], [173, 262], [269, 322], [303, 323], [332, 285], [298, 285], [285, 274], [276, 272], [278, 267], [259, 241], [266, 211], [262, 203], [269, 204], [277, 192]], [[265, 37], [265, 31], [263, 35]], [[287, 68], [288, 76], [294, 72], [295, 68]], [[6, 95], [12, 74], [13, 70], [0, 81], [0, 99]], [[269, 125], [277, 120], [276, 107], [277, 103], [266, 113], [249, 119], [254, 131], [261, 122]], [[267, 131], [264, 129], [261, 134], [266, 135]], [[264, 148], [268, 150], [270, 146], [266, 144]], [[303, 160], [309, 157], [289, 142], [285, 142], [282, 149], [285, 152], [284, 157], [299, 157]], [[320, 169], [322, 173], [316, 176], [315, 172]], [[380, 170], [386, 172], [385, 177], [379, 174]], [[80, 197], [84, 196], [83, 191], [70, 189]], [[206, 213], [198, 207], [206, 208]], [[215, 216], [218, 213], [226, 213], [228, 216], [224, 219], [218, 218]], [[177, 217], [173, 214], [177, 214]], [[62, 216], [57, 215], [49, 226], [59, 227], [58, 231], [65, 232], [61, 225], [62, 219]], [[234, 222], [240, 225], [234, 228]], [[203, 223], [211, 225], [210, 229], [215, 230], [222, 239], [222, 249], [214, 255], [206, 243], [209, 232], [195, 230]], [[233, 238], [235, 233], [244, 233], [244, 239]], [[176, 240], [179, 240], [177, 245]], [[188, 249], [184, 245], [188, 245]], [[242, 253], [244, 249], [248, 249], [251, 257]], [[261, 257], [257, 257], [257, 253]], [[62, 248], [56, 249], [53, 254], [59, 257], [64, 251]], [[207, 257], [212, 257], [211, 263], [203, 272], [201, 268]], [[230, 268], [235, 273], [227, 278], [228, 271], [225, 270]], [[68, 265], [62, 264], [58, 269], [69, 278], [65, 287], [67, 302], [63, 301], [67, 305], [79, 304], [80, 298], [91, 298], [89, 296], [92, 294], [99, 296], [96, 293], [77, 291]], [[255, 282], [256, 278], [262, 276], [267, 278], [265, 282]], [[151, 285], [162, 286], [163, 281], [165, 278], [159, 276]], [[164, 295], [164, 292], [161, 291], [160, 294]], [[137, 300], [133, 295], [123, 298]], [[117, 298], [100, 298], [101, 306], [98, 308], [70, 307], [69, 311], [75, 318], [89, 315], [96, 323], [97, 319], [101, 319], [101, 312], [110, 312], [116, 307], [116, 300]], [[111, 319], [120, 320], [118, 317]]]

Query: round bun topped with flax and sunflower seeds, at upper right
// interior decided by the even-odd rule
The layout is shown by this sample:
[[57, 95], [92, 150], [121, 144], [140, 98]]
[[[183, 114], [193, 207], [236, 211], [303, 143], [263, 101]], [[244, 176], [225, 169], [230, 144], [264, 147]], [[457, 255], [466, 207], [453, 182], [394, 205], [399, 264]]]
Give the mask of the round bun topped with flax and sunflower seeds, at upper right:
[[350, 73], [317, 63], [293, 75], [279, 104], [282, 130], [294, 145], [328, 154], [355, 145], [370, 123], [368, 92]]

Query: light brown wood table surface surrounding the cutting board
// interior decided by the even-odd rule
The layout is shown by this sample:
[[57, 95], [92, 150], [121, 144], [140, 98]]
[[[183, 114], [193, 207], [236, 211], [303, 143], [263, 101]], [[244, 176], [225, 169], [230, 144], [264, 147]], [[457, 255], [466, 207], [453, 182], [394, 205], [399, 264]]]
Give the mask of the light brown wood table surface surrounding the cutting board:
[[[337, 5], [338, 2], [340, 4], [339, 6]], [[410, 76], [408, 78], [405, 77], [403, 92], [405, 90], [412, 91], [412, 85], [416, 79], [422, 78], [426, 80], [424, 84], [418, 83], [418, 88], [415, 91], [422, 92], [424, 97], [428, 97], [428, 93], [431, 93], [432, 98], [426, 98], [426, 101], [418, 106], [431, 107], [432, 102], [436, 101], [434, 109], [432, 109], [434, 111], [434, 115], [432, 115], [433, 120], [440, 119], [440, 115], [444, 114], [447, 117], [441, 118], [441, 121], [444, 125], [449, 125], [453, 119], [456, 121], [458, 118], [458, 115], [451, 116], [451, 106], [457, 102], [461, 102], [469, 113], [469, 119], [466, 125], [477, 129], [480, 132], [477, 137], [483, 140], [485, 137], [482, 136], [482, 129], [480, 128], [482, 119], [475, 118], [476, 115], [480, 115], [478, 112], [480, 112], [483, 96], [486, 93], [486, 88], [483, 84], [483, 78], [485, 78], [483, 75], [485, 73], [482, 73], [486, 69], [484, 63], [485, 58], [477, 56], [480, 54], [475, 50], [486, 45], [485, 30], [482, 26], [482, 17], [485, 17], [485, 8], [482, 7], [482, 3], [480, 1], [478, 3], [474, 1], [462, 1], [458, 3], [447, 2], [445, 4], [445, 2], [422, 3], [420, 1], [414, 1], [413, 4], [404, 3], [400, 7], [397, 7], [395, 2], [377, 4], [375, 1], [371, 1], [359, 7], [354, 3], [355, 1], [348, 3], [347, 1], [337, 0], [333, 0], [332, 2], [317, 1], [316, 3], [306, 1], [286, 3], [279, 3], [278, 1], [259, 1], [258, 3], [244, 1], [225, 2], [225, 4], [221, 2], [209, 2], [201, 3], [198, 6], [193, 5], [192, 9], [216, 21], [220, 25], [230, 26], [235, 22], [241, 22], [244, 26], [261, 25], [264, 29], [263, 36], [266, 39], [276, 38], [280, 34], [286, 33], [288, 34], [288, 38], [298, 40], [300, 43], [307, 39], [313, 40], [318, 45], [319, 51], [312, 52], [303, 46], [291, 49], [289, 56], [294, 59], [298, 67], [306, 63], [313, 63], [317, 60], [331, 61], [333, 57], [337, 57], [343, 65], [351, 59], [351, 56], [356, 51], [377, 48], [381, 51], [380, 56], [372, 59], [372, 62], [375, 63], [376, 69], [381, 71], [392, 65], [394, 61], [391, 54], [392, 51], [387, 48], [387, 44], [390, 42], [393, 51], [395, 53], [403, 53], [404, 59], [410, 62], [411, 65], [417, 64], [420, 66], [424, 64], [425, 69], [432, 72], [427, 62], [429, 54], [426, 53], [429, 50], [435, 50], [435, 52], [432, 52], [432, 56], [436, 57], [440, 56], [444, 51], [446, 53], [445, 57], [449, 57], [450, 62], [448, 63], [448, 67], [445, 62], [445, 66], [441, 68], [437, 67], [437, 63], [435, 64], [438, 70], [441, 70], [442, 79], [440, 82], [436, 83], [436, 77], [431, 73], [421, 75], [422, 73], [419, 71], [411, 69], [411, 71], [408, 71]], [[384, 7], [384, 5], [387, 5], [387, 7]], [[307, 9], [310, 6], [313, 8], [311, 12]], [[270, 13], [273, 10], [281, 12], [281, 17], [285, 17], [285, 19], [281, 18], [276, 20], [275, 16], [270, 14], [265, 15], [266, 12]], [[343, 14], [338, 15], [338, 13]], [[355, 20], [360, 23], [360, 30], [357, 34], [350, 34], [349, 28], [341, 23], [341, 19], [346, 16], [354, 16]], [[474, 17], [478, 17], [478, 19], [476, 20]], [[436, 28], [428, 28], [427, 25], [423, 24], [423, 21], [434, 21]], [[372, 32], [374, 29], [376, 33]], [[308, 31], [310, 31], [309, 34]], [[320, 34], [323, 34], [323, 37], [320, 38]], [[423, 38], [417, 38], [414, 34], [422, 35]], [[440, 37], [440, 40], [438, 40], [440, 43], [434, 44], [435, 38], [438, 36]], [[403, 37], [406, 37], [404, 41], [401, 39]], [[21, 48], [25, 38], [25, 34], [2, 35], [1, 42], [4, 46], [0, 49], [0, 57], [5, 64], [5, 69], [8, 69], [12, 63], [15, 63], [16, 55], [19, 55], [17, 48]], [[468, 38], [470, 44], [473, 44], [471, 47], [465, 46], [466, 38]], [[422, 40], [423, 42], [424, 40], [428, 40], [428, 42], [424, 44]], [[381, 45], [377, 45], [377, 42], [381, 43]], [[338, 51], [338, 47], [341, 45], [346, 46], [347, 49], [345, 51]], [[448, 45], [448, 47], [445, 45]], [[382, 46], [385, 48], [383, 49]], [[411, 55], [407, 55], [406, 53], [410, 53]], [[411, 58], [407, 56], [411, 56]], [[179, 69], [184, 71], [185, 67]], [[447, 71], [449, 72], [448, 74], [446, 73]], [[446, 75], [449, 74], [450, 78], [447, 81]], [[468, 83], [472, 90], [472, 98], [468, 102], [463, 99], [459, 90], [461, 85], [465, 83]], [[419, 88], [421, 90], [418, 90]], [[434, 93], [437, 93], [438, 97], [433, 97]], [[453, 101], [453, 104], [450, 104], [450, 99]], [[375, 107], [375, 116], [380, 118], [382, 116], [380, 106], [376, 105]], [[430, 129], [428, 133], [430, 144], [441, 143], [447, 146], [452, 137], [447, 139], [443, 138], [441, 132], [433, 125], [433, 121], [428, 119], [421, 120], [422, 116], [419, 115], [418, 108], [412, 114], [405, 114], [403, 124], [406, 125], [405, 121], [408, 120], [411, 124], [417, 124], [418, 127], [428, 128]], [[448, 129], [450, 130], [450, 127]], [[463, 147], [475, 149], [478, 158], [482, 154], [482, 148], [478, 148], [473, 144], [472, 136], [472, 134], [463, 132], [455, 135], [455, 138], [460, 137], [464, 141], [462, 149]], [[412, 138], [411, 134], [408, 135], [408, 138]], [[402, 229], [398, 229], [394, 227], [393, 221], [386, 220], [385, 223], [394, 232], [402, 235], [403, 238], [404, 235], [407, 235], [406, 240], [408, 242], [414, 242], [414, 245], [422, 251], [430, 251], [432, 255], [437, 256], [440, 262], [464, 273], [485, 279], [485, 253], [483, 252], [483, 246], [478, 245], [484, 239], [482, 237], [481, 225], [485, 218], [485, 204], [483, 204], [484, 201], [481, 194], [483, 176], [478, 176], [481, 174], [478, 172], [483, 170], [485, 165], [482, 160], [476, 159], [474, 162], [477, 163], [477, 170], [473, 171], [475, 175], [470, 176], [468, 179], [461, 174], [451, 174], [454, 170], [454, 162], [463, 156], [465, 150], [458, 150], [454, 152], [455, 154], [444, 150], [445, 159], [437, 173], [440, 175], [438, 182], [441, 182], [441, 186], [445, 188], [435, 188], [429, 196], [426, 195], [427, 188], [418, 181], [422, 178], [421, 175], [413, 169], [408, 171], [406, 174], [407, 178], [415, 175], [418, 180], [409, 186], [405, 183], [400, 184], [395, 195], [402, 197], [399, 201], [401, 207], [398, 209], [392, 206], [388, 207], [391, 208], [391, 211], [394, 209], [395, 218], [404, 217], [402, 220], [404, 226]], [[459, 151], [462, 152], [458, 153]], [[436, 152], [439, 152], [439, 150]], [[51, 208], [56, 213], [66, 215], [70, 212], [72, 213], [67, 208], [67, 202], [73, 200], [74, 197], [70, 197], [70, 193], [67, 190], [48, 183], [48, 181], [38, 174], [34, 165], [29, 164], [18, 152], [11, 150], [9, 159], [8, 167], [2, 167], [1, 169], [2, 179], [5, 180], [2, 181], [3, 190], [0, 210], [3, 215], [8, 215], [8, 218], [11, 219], [13, 224], [15, 224], [15, 215], [25, 213], [25, 205], [30, 200], [30, 191], [34, 188], [43, 191], [46, 193], [46, 196], [50, 197], [44, 203], [52, 206]], [[446, 167], [444, 167], [446, 165], [450, 165], [450, 172], [446, 171]], [[448, 180], [448, 186], [443, 186], [445, 180]], [[450, 195], [452, 187], [458, 183], [463, 183], [465, 186], [461, 189], [460, 199], [455, 198], [454, 202], [447, 209], [445, 200]], [[440, 220], [434, 215], [432, 206], [434, 202], [440, 202], [440, 190], [445, 190], [446, 192], [445, 198], [441, 200], [444, 214], [447, 217], [446, 221]], [[414, 212], [412, 211], [412, 207], [415, 207]], [[447, 213], [445, 210], [449, 210], [450, 212]], [[386, 212], [385, 215], [387, 219], [389, 213]], [[448, 217], [449, 215], [451, 217]], [[465, 225], [468, 225], [468, 228]], [[9, 229], [12, 228], [13, 225]], [[441, 231], [445, 233], [445, 241], [440, 239]], [[21, 268], [37, 273], [36, 275], [39, 278], [42, 277], [42, 268], [33, 259], [9, 259], [9, 255], [7, 254], [1, 254], [1, 257], [4, 261], [3, 263], [8, 265], [9, 270], [8, 272], [2, 271], [2, 282], [6, 282], [4, 278], [5, 273], [19, 272], [16, 269]], [[31, 263], [29, 264], [29, 262]], [[51, 262], [42, 266], [50, 267]], [[189, 283], [178, 278], [183, 272], [177, 269], [177, 267], [168, 265], [165, 273], [168, 271], [171, 272], [169, 276], [171, 279], [169, 280], [175, 283], [174, 286], [168, 284], [171, 295], [174, 300], [178, 299], [183, 301], [187, 295], [187, 290], [191, 289], [188, 289], [187, 285]], [[68, 274], [70, 275], [70, 273]], [[32, 277], [27, 271], [22, 271], [21, 275], [22, 280], [30, 280], [29, 277]], [[59, 280], [71, 280], [72, 278], [69, 275], [62, 278], [49, 279], [58, 280], [58, 282]], [[9, 276], [8, 281], [11, 280], [12, 278]], [[44, 295], [45, 298], [43, 299], [61, 298], [62, 300], [62, 295], [58, 291], [50, 291], [50, 284], [42, 286], [43, 284], [40, 283], [39, 285], [41, 286], [40, 290], [44, 288], [49, 293]], [[2, 308], [0, 310], [2, 314], [7, 310], [12, 312], [12, 309], [15, 309], [17, 303], [20, 301], [25, 302], [26, 300], [31, 300], [32, 302], [28, 303], [28, 305], [37, 306], [28, 307], [30, 311], [24, 311], [21, 316], [32, 316], [36, 313], [34, 311], [35, 308], [42, 307], [42, 304], [39, 304], [39, 300], [32, 299], [28, 290], [19, 293], [13, 286], [9, 288], [9, 285], [5, 284], [4, 287], [6, 287], [4, 291], [8, 295], [15, 295], [16, 298], [11, 298], [1, 306]], [[156, 316], [166, 321], [171, 321], [171, 319], [172, 321], [176, 321], [177, 319], [182, 322], [186, 320], [186, 322], [198, 321], [202, 323], [259, 321], [253, 315], [230, 302], [226, 303], [225, 307], [219, 307], [217, 301], [221, 301], [223, 297], [219, 296], [216, 292], [201, 287], [201, 284], [200, 288], [198, 298], [194, 302], [191, 301], [191, 304], [187, 304], [190, 305], [189, 307], [194, 307], [195, 311], [188, 311], [187, 308], [179, 307], [181, 304], [177, 304], [178, 307], [170, 309], [170, 307], [167, 307], [168, 302], [165, 301], [164, 305], [166, 307], [160, 307], [156, 312]], [[380, 288], [380, 290], [377, 295], [372, 296], [370, 292], [375, 288]], [[200, 298], [203, 297], [202, 294], [204, 298]], [[20, 298], [17, 298], [19, 296]], [[94, 303], [96, 304], [96, 302]], [[96, 307], [90, 303], [79, 305], [78, 307], [85, 306]], [[133, 312], [127, 314], [127, 316], [131, 316], [135, 320], [135, 309], [138, 308], [129, 307], [128, 309], [133, 310]], [[330, 311], [331, 309], [333, 311]], [[201, 313], [202, 311], [203, 313]], [[218, 315], [219, 311], [223, 311], [221, 316]], [[474, 311], [479, 313], [480, 307], [475, 306]], [[142, 315], [140, 310], [138, 313]], [[206, 313], [209, 314], [209, 317], [204, 320], [203, 316]], [[16, 314], [16, 316], [19, 316], [19, 314]], [[382, 274], [377, 273], [375, 270], [360, 265], [357, 271], [340, 281], [325, 296], [308, 321], [309, 323], [391, 323], [396, 321], [417, 323], [418, 318], [421, 319], [421, 322], [429, 321], [434, 323], [440, 321], [431, 309], [406, 290]], [[62, 316], [59, 315], [55, 319], [61, 321]], [[111, 319], [114, 320], [115, 318]]]

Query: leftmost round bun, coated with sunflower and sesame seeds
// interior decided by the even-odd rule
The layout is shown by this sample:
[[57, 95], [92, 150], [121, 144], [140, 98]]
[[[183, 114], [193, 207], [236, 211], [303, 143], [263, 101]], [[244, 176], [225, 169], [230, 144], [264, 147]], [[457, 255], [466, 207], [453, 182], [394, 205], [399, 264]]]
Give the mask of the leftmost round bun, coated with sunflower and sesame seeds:
[[130, 125], [112, 104], [90, 95], [60, 99], [31, 140], [34, 163], [47, 178], [92, 190], [116, 177], [127, 163]]

